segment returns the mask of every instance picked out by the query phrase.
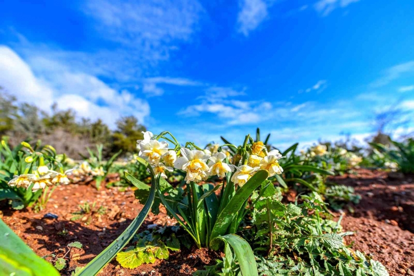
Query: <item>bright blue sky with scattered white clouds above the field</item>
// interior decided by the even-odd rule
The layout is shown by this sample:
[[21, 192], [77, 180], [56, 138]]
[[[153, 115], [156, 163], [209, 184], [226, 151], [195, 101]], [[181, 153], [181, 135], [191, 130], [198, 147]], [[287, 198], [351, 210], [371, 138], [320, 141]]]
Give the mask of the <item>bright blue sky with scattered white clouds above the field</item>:
[[361, 140], [414, 109], [413, 30], [412, 0], [3, 0], [0, 86], [182, 142]]

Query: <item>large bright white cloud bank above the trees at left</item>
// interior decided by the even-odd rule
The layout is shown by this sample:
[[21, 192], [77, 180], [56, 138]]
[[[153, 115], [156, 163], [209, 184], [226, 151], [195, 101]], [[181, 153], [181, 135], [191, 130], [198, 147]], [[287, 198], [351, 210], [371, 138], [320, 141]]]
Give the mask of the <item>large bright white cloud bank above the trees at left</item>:
[[[40, 60], [40, 58], [38, 58]], [[126, 90], [116, 91], [100, 79], [73, 71], [64, 64], [42, 58], [43, 68], [35, 75], [32, 68], [12, 49], [0, 46], [0, 83], [20, 101], [50, 110], [72, 108], [78, 115], [102, 118], [110, 127], [120, 116], [134, 115], [141, 122], [150, 114], [149, 104]]]

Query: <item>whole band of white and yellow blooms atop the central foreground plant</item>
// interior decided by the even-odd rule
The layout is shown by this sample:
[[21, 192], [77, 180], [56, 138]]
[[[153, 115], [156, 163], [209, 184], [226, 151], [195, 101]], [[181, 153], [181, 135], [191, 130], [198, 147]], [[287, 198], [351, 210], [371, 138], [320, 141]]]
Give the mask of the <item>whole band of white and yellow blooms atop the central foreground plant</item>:
[[[167, 178], [166, 172], [179, 169], [186, 172], [187, 183], [200, 182], [210, 176], [225, 177], [227, 173], [234, 172], [231, 181], [235, 185], [243, 186], [257, 171], [267, 170], [269, 176], [282, 174], [283, 169], [278, 159], [282, 155], [278, 150], [267, 152], [263, 142], [251, 145], [251, 154], [246, 164], [229, 164], [229, 153], [218, 151], [218, 144], [207, 145], [205, 150], [188, 149], [176, 145], [174, 150], [168, 148], [168, 143], [158, 141], [149, 131], [143, 132], [144, 139], [138, 140], [139, 156], [146, 159], [154, 170], [155, 175]], [[178, 154], [178, 157], [177, 157]]]

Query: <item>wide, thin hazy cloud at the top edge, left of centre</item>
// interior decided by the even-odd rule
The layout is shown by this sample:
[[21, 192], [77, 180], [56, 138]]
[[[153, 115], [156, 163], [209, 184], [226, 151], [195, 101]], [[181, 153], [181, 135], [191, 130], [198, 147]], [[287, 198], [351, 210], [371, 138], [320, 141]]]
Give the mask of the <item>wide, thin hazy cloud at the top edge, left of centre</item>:
[[197, 0], [88, 0], [83, 11], [97, 21], [106, 39], [151, 48], [173, 39], [188, 40], [203, 7]]

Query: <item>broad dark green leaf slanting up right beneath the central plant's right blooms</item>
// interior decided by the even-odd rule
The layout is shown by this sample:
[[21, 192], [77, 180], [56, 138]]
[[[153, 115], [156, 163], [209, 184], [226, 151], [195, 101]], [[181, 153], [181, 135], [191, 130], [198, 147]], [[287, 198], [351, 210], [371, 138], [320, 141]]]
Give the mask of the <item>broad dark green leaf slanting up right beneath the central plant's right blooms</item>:
[[245, 201], [250, 197], [254, 190], [259, 187], [264, 180], [269, 176], [269, 172], [266, 170], [258, 171], [253, 177], [251, 177], [242, 188], [240, 188], [234, 197], [230, 199], [226, 207], [217, 217], [213, 230], [210, 235], [210, 242], [217, 236], [226, 234], [227, 228], [231, 221], [240, 211]]

